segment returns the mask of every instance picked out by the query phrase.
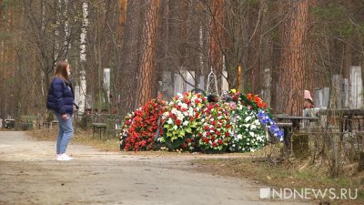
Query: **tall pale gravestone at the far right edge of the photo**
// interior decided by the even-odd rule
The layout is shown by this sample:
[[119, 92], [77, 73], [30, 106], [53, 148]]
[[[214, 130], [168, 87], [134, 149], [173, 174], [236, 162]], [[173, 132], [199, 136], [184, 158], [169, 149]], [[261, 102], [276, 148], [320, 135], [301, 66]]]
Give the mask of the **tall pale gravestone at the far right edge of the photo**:
[[362, 108], [362, 90], [361, 67], [350, 67], [349, 108]]

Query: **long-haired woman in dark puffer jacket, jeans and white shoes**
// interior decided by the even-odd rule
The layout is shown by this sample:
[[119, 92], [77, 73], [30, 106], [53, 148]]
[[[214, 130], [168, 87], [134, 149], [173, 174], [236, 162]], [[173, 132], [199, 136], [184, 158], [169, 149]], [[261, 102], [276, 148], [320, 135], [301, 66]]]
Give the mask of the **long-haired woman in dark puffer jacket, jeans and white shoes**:
[[72, 127], [72, 113], [74, 92], [69, 79], [71, 68], [66, 61], [60, 61], [56, 65], [55, 77], [48, 90], [46, 108], [56, 112], [59, 131], [56, 142], [56, 159], [72, 160], [66, 155], [66, 148], [74, 133]]

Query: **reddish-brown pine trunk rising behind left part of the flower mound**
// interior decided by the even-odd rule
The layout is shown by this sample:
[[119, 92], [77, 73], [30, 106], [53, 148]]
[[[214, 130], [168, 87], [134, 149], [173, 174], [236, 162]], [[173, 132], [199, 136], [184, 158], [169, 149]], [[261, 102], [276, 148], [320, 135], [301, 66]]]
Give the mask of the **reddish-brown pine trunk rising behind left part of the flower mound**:
[[159, 0], [150, 0], [147, 4], [146, 17], [144, 19], [142, 56], [139, 68], [137, 85], [137, 107], [146, 104], [153, 97], [155, 81], [154, 53], [157, 34], [157, 10]]

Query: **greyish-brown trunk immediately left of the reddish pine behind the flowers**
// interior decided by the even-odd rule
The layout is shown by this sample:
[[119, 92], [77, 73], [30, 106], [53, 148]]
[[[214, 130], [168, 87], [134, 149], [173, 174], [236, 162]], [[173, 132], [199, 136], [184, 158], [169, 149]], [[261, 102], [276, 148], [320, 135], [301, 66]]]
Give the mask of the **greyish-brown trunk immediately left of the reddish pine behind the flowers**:
[[127, 1], [126, 26], [123, 42], [122, 66], [118, 70], [117, 86], [121, 92], [117, 96], [118, 113], [125, 116], [127, 112], [135, 109], [136, 101], [136, 75], [137, 59], [139, 53], [140, 22], [139, 9], [144, 4], [143, 0]]

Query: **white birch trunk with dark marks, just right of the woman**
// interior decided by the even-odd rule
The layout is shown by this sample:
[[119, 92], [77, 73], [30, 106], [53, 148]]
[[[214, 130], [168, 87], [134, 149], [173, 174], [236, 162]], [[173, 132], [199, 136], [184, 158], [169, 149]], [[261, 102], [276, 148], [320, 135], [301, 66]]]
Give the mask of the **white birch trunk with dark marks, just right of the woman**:
[[80, 95], [79, 114], [84, 114], [86, 108], [86, 36], [88, 26], [88, 2], [82, 1], [82, 27], [80, 35]]

